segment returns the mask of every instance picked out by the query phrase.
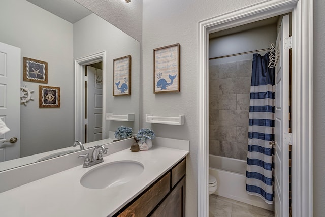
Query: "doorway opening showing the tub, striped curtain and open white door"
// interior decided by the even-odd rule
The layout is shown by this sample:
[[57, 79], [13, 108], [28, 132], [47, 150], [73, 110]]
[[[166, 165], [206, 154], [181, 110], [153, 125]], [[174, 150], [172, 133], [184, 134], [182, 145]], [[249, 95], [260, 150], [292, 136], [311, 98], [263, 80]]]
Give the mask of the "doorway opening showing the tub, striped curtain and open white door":
[[209, 41], [209, 176], [220, 186], [214, 194], [269, 210], [277, 204], [283, 209], [276, 216], [289, 215], [289, 148], [280, 135], [289, 133], [291, 48], [279, 49], [291, 32], [289, 17], [219, 31]]

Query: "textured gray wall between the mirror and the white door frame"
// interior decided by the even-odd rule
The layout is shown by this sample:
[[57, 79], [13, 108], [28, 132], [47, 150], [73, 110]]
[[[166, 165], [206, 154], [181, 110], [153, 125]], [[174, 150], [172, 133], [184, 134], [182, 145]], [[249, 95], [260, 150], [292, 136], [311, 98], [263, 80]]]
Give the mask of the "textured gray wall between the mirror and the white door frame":
[[[259, 1], [143, 1], [142, 127], [157, 136], [190, 140], [186, 169], [186, 216], [197, 216], [198, 21]], [[153, 94], [153, 49], [180, 43], [180, 92]], [[145, 114], [185, 115], [185, 125], [148, 124]]]

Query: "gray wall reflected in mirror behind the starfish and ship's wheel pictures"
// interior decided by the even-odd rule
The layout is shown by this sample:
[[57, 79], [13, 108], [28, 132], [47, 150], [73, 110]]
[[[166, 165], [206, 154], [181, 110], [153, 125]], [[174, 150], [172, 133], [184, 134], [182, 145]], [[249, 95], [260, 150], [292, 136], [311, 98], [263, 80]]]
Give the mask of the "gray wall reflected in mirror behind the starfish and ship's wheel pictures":
[[[2, 1], [0, 20], [0, 41], [21, 48], [21, 84], [34, 90], [34, 101], [20, 105], [20, 156], [67, 147], [74, 140], [73, 25], [23, 0]], [[22, 57], [48, 63], [47, 84], [23, 81]], [[39, 85], [60, 87], [60, 108], [39, 108]]]

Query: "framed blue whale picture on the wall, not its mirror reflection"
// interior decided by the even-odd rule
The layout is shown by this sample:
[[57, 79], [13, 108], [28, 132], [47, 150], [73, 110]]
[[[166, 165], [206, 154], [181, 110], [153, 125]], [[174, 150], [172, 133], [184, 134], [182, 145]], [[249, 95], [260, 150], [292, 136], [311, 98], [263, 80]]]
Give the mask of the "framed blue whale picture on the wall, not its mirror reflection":
[[153, 50], [153, 92], [179, 92], [179, 44]]

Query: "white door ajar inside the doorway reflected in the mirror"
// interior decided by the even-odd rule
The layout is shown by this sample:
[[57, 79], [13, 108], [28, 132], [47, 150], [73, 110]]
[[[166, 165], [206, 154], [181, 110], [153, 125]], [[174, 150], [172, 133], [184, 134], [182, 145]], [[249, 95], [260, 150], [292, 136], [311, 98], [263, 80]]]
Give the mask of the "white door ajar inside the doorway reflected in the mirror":
[[103, 139], [103, 73], [101, 69], [87, 66], [88, 76], [88, 125], [87, 142]]

